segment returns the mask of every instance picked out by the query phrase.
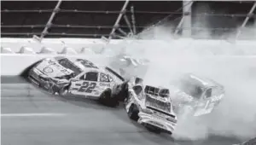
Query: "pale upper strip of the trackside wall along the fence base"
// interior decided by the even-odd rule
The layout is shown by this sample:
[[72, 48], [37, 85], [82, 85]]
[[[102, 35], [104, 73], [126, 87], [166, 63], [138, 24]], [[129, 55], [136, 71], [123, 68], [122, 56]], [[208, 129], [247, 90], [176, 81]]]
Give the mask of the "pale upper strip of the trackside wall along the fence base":
[[[180, 38], [177, 40], [111, 40], [107, 47], [109, 49], [116, 47], [129, 49], [131, 45], [128, 44], [136, 44], [144, 47], [148, 42], [150, 44], [165, 44], [170, 49], [199, 49], [202, 52], [208, 50], [218, 55], [227, 54], [230, 51], [234, 52], [232, 55], [256, 55], [256, 40], [240, 40], [236, 41], [236, 43], [230, 43], [224, 40], [195, 40], [190, 38]], [[41, 52], [43, 48], [51, 48], [55, 52], [61, 53], [65, 47], [68, 47], [80, 54], [84, 53], [84, 49], [92, 49], [96, 53], [101, 52], [102, 48], [106, 47], [106, 42], [103, 39], [94, 38], [45, 38], [42, 43], [38, 43], [32, 38], [2, 38], [1, 47], [11, 49], [13, 53], [22, 52], [20, 50], [21, 47], [31, 48], [35, 53]]]

